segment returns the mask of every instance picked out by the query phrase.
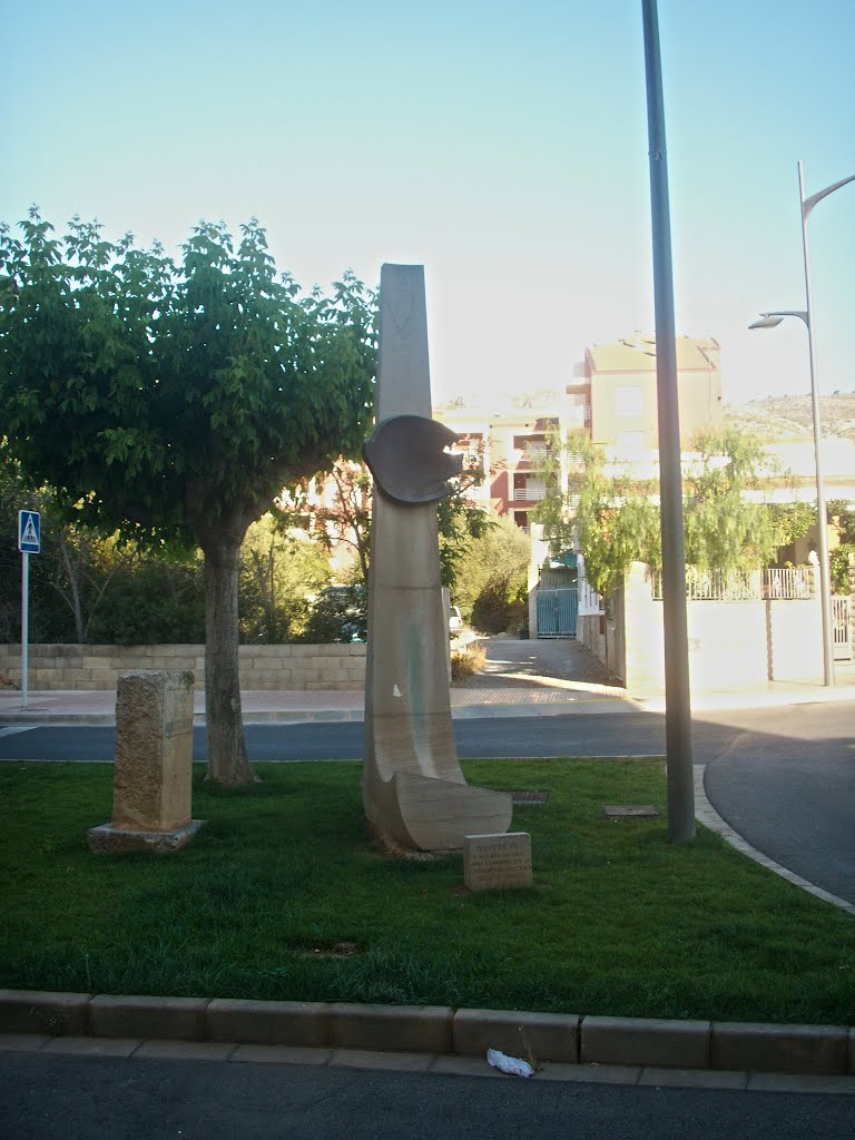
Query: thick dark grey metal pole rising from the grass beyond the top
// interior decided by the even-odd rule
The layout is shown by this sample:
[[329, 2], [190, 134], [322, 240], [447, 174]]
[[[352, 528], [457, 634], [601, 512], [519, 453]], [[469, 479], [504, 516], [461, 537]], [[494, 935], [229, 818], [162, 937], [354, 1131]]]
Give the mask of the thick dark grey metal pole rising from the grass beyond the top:
[[642, 0], [642, 11], [648, 81], [650, 197], [653, 222], [668, 838], [671, 842], [687, 842], [694, 839], [694, 772], [689, 689], [683, 482], [679, 456], [677, 344], [674, 329], [674, 274], [668, 205], [668, 163], [665, 145], [665, 100], [662, 97], [662, 63], [659, 51], [659, 16], [656, 0]]

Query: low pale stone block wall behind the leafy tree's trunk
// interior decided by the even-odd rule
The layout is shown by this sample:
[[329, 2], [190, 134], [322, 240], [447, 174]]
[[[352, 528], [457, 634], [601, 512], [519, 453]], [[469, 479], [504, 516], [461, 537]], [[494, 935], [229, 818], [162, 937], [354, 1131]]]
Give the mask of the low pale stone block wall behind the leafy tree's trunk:
[[[241, 645], [243, 689], [360, 690], [365, 645]], [[31, 645], [33, 690], [115, 689], [133, 669], [193, 669], [205, 684], [204, 645]], [[21, 645], [0, 645], [0, 677], [21, 684]]]

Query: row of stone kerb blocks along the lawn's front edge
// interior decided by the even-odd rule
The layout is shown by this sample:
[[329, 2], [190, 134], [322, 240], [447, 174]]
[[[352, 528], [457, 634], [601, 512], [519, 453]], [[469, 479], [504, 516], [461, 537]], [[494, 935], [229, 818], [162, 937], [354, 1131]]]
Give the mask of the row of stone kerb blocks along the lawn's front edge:
[[0, 1033], [855, 1075], [855, 1027], [0, 990]]

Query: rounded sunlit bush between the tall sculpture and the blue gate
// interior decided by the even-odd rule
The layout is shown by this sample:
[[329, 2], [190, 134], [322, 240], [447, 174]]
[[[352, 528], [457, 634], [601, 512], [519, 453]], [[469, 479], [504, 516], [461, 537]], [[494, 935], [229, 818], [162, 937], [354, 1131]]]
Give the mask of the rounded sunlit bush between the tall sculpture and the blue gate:
[[531, 545], [511, 519], [500, 518], [473, 538], [458, 564], [454, 601], [466, 621], [484, 633], [522, 618]]

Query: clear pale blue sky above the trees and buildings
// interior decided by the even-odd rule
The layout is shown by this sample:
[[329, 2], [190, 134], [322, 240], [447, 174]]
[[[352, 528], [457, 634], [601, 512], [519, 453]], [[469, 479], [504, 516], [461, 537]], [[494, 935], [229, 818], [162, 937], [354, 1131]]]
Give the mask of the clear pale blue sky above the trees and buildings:
[[[659, 0], [677, 332], [725, 401], [809, 389], [806, 193], [855, 173], [855, 0]], [[328, 285], [425, 266], [434, 400], [553, 388], [652, 331], [641, 0], [0, 0], [0, 219], [174, 250], [252, 215]], [[855, 184], [811, 221], [823, 392], [855, 389]]]

